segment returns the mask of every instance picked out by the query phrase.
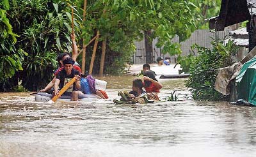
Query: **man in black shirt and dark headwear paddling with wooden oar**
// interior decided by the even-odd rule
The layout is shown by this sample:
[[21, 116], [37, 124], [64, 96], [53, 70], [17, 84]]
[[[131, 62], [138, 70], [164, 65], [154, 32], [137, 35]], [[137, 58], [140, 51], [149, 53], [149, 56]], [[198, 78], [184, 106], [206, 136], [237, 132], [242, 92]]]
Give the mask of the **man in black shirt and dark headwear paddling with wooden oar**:
[[69, 82], [73, 77], [76, 77], [76, 81], [72, 86], [70, 86], [63, 95], [71, 96], [72, 101], [78, 100], [78, 91], [81, 89], [80, 84], [80, 72], [75, 70], [73, 65], [75, 61], [68, 57], [63, 61], [64, 69], [61, 70], [56, 76], [56, 80], [54, 82], [54, 94], [59, 94], [59, 89], [65, 86], [67, 82]]

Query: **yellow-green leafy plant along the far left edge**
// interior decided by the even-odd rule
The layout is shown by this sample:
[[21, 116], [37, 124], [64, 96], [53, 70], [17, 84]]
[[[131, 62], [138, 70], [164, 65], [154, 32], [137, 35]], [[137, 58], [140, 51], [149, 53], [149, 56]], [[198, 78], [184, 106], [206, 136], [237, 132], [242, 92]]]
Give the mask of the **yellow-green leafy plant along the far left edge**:
[[[0, 3], [0, 91], [12, 88], [12, 77], [15, 71], [22, 70], [24, 56], [28, 55], [22, 49], [16, 49], [17, 34], [13, 33], [12, 25], [6, 16], [10, 5], [8, 0]], [[14, 83], [15, 84], [15, 83]]]

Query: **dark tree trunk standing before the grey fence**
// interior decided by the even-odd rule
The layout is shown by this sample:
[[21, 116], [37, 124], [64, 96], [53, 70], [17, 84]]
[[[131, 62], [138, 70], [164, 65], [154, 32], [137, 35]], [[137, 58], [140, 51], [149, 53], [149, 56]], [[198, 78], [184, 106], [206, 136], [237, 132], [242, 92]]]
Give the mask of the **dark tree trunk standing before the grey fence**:
[[153, 63], [153, 47], [150, 41], [151, 31], [144, 31], [146, 63]]

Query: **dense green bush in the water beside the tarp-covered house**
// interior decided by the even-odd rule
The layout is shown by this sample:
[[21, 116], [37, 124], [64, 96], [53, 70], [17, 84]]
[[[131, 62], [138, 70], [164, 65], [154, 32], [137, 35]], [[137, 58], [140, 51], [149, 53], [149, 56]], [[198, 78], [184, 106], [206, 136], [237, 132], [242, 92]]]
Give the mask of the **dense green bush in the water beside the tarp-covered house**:
[[189, 70], [190, 76], [186, 82], [195, 100], [223, 100], [226, 96], [214, 89], [218, 69], [234, 64], [232, 56], [237, 53], [234, 41], [229, 40], [226, 45], [223, 41], [212, 41], [213, 49], [195, 45], [193, 50], [198, 50]]

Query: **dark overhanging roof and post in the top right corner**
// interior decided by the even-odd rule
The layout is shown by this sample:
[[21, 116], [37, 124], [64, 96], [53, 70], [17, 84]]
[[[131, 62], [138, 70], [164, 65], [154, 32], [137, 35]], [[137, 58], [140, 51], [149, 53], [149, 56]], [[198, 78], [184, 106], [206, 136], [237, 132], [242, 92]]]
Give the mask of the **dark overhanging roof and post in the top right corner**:
[[248, 47], [250, 52], [256, 46], [255, 7], [256, 0], [222, 0], [220, 13], [218, 16], [210, 19], [209, 27], [210, 29], [215, 29], [215, 31], [223, 31], [225, 27], [248, 21], [246, 31], [248, 32]]

